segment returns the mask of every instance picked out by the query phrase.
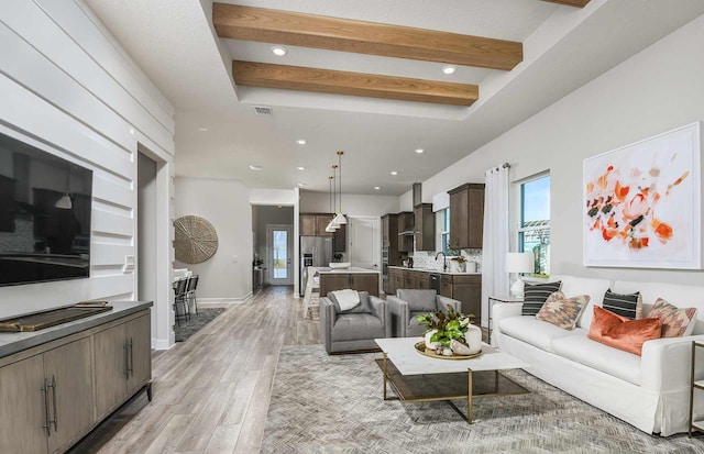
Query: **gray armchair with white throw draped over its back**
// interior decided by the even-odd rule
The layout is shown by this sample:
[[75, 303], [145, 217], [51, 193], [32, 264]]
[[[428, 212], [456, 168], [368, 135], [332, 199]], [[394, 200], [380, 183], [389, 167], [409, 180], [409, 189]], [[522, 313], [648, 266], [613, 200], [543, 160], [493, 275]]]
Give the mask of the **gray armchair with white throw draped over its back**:
[[360, 291], [360, 303], [342, 311], [334, 295], [320, 298], [320, 336], [330, 353], [378, 350], [375, 339], [391, 337], [388, 306], [381, 298]]

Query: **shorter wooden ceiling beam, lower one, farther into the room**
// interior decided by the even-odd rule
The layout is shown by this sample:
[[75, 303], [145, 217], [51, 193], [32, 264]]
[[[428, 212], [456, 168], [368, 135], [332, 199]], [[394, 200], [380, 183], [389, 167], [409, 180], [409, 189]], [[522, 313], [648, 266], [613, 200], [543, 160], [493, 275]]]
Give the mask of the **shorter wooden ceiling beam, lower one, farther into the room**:
[[237, 85], [316, 91], [402, 101], [472, 106], [479, 99], [479, 87], [373, 74], [304, 68], [254, 62], [232, 62]]

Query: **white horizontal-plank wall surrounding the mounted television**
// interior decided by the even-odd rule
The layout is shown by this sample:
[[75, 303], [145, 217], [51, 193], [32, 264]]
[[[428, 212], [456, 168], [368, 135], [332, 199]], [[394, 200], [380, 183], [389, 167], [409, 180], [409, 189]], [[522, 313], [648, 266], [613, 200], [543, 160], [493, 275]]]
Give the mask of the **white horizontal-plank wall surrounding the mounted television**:
[[[0, 288], [0, 318], [135, 298], [136, 277], [123, 272], [136, 255], [135, 154], [145, 144], [170, 171], [169, 102], [79, 1], [0, 8], [0, 93], [3, 133], [94, 170], [90, 278]], [[160, 218], [164, 242], [168, 226]], [[168, 273], [153, 278], [163, 290], [153, 317], [169, 317]]]

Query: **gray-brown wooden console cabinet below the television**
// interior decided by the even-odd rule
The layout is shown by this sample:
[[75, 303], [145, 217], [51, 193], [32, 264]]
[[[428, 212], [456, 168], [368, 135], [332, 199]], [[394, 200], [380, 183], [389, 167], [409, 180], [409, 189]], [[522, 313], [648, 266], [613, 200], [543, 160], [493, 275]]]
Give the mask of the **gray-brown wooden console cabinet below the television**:
[[0, 453], [64, 453], [121, 405], [151, 400], [152, 302], [0, 333]]

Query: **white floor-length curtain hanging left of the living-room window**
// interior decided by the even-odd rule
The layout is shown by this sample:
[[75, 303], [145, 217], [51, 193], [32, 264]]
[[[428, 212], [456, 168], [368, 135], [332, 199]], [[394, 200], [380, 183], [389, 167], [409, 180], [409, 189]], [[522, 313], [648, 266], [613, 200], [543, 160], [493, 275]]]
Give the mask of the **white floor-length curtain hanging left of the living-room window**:
[[488, 326], [488, 297], [508, 295], [504, 257], [508, 252], [508, 164], [486, 170], [482, 251], [482, 326]]

